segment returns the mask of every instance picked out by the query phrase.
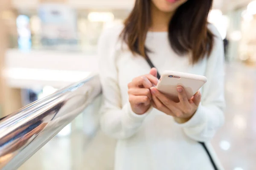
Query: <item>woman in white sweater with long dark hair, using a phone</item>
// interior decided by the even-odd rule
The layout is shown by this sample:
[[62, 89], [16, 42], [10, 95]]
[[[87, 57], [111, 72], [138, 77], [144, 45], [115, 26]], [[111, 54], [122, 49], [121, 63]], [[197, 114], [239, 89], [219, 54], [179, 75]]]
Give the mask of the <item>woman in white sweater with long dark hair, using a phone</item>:
[[[211, 151], [208, 142], [224, 123], [224, 51], [207, 23], [211, 6], [212, 0], [136, 0], [124, 26], [102, 34], [101, 126], [118, 139], [116, 170], [214, 169], [198, 143]], [[147, 57], [160, 74], [181, 71], [208, 82], [192, 99], [177, 87], [180, 102], [173, 104], [154, 88], [157, 70]]]

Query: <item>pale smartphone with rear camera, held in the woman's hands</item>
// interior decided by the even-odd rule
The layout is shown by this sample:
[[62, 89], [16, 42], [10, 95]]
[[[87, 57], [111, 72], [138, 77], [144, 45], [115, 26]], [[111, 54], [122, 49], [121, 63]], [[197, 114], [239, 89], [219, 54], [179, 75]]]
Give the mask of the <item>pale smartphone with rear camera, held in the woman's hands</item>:
[[191, 99], [206, 82], [207, 78], [201, 75], [164, 71], [156, 88], [161, 93], [170, 96], [174, 101], [179, 101], [178, 86], [182, 86], [188, 99]]

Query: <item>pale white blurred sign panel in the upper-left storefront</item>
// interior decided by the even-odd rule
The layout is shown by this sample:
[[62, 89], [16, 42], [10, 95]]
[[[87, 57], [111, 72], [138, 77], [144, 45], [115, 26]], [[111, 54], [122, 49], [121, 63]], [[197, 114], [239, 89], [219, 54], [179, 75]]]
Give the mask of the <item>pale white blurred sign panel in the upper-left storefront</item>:
[[76, 12], [64, 4], [42, 4], [38, 10], [42, 24], [41, 41], [46, 46], [76, 45]]

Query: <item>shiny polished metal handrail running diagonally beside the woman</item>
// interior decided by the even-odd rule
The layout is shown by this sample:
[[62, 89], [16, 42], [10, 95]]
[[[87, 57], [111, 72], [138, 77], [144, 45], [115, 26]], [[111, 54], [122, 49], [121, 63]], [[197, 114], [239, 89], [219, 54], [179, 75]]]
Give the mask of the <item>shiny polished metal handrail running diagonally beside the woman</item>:
[[100, 92], [98, 75], [90, 75], [1, 119], [0, 169], [20, 167]]

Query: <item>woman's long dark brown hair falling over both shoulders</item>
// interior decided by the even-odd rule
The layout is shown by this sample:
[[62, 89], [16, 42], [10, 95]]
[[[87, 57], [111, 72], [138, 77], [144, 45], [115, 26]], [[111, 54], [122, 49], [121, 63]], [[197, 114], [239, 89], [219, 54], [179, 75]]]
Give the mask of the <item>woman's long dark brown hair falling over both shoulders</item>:
[[[173, 50], [180, 55], [190, 53], [193, 64], [212, 51], [213, 34], [207, 28], [211, 7], [212, 0], [188, 0], [177, 8], [169, 23], [169, 41]], [[124, 25], [122, 39], [134, 54], [146, 57], [150, 51], [145, 47], [145, 39], [151, 26], [151, 0], [136, 0]]]

